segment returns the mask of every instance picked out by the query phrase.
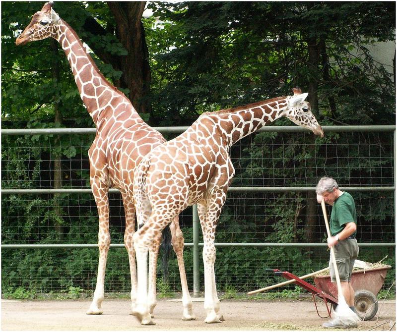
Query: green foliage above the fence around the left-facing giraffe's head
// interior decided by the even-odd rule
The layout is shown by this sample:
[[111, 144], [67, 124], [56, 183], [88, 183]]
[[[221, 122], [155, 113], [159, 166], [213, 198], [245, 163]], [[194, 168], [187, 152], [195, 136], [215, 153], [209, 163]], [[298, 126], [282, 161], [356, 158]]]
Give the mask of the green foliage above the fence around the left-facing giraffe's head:
[[[61, 107], [65, 123], [70, 126], [92, 127], [92, 119], [82, 105], [69, 63], [58, 43], [46, 39], [26, 46], [15, 46], [16, 36], [28, 25], [32, 14], [40, 9], [40, 5], [37, 2], [7, 2], [1, 8], [3, 123], [4, 120], [7, 123], [35, 118], [42, 124], [51, 122], [56, 102]], [[93, 6], [94, 3], [85, 5], [81, 2], [59, 2], [56, 3], [56, 11], [90, 45], [98, 43], [110, 54], [125, 55], [126, 50], [115, 36], [107, 34], [98, 37], [83, 30], [85, 18]], [[104, 8], [108, 13], [109, 8], [102, 6]], [[107, 18], [109, 19], [109, 15]], [[54, 44], [56, 50], [53, 48]], [[120, 78], [120, 70], [103, 63], [95, 54], [91, 55], [110, 81]], [[61, 71], [59, 81], [55, 81], [53, 77], [52, 69], [55, 64]]]

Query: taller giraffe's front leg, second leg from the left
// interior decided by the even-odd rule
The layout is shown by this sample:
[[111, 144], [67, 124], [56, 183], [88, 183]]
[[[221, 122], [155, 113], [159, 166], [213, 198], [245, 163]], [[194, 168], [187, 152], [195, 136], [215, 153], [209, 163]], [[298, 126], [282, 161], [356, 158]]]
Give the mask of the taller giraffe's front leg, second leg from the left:
[[128, 259], [130, 263], [130, 277], [131, 277], [131, 311], [130, 315], [134, 315], [134, 306], [136, 301], [136, 263], [135, 250], [133, 249], [132, 236], [135, 233], [135, 207], [132, 199], [127, 194], [122, 194], [124, 212], [126, 215], [126, 230], [124, 232], [124, 245], [128, 251]]

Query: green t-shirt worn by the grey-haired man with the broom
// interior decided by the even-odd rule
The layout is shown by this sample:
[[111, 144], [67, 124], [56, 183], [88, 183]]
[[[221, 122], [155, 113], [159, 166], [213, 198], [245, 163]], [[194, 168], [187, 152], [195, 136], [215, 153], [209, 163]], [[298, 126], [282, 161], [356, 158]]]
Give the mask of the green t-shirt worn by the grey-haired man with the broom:
[[[353, 197], [347, 192], [343, 192], [333, 203], [330, 220], [331, 235], [335, 236], [341, 232], [344, 225], [354, 222], [357, 225], [356, 206]], [[356, 235], [355, 231], [352, 235]]]

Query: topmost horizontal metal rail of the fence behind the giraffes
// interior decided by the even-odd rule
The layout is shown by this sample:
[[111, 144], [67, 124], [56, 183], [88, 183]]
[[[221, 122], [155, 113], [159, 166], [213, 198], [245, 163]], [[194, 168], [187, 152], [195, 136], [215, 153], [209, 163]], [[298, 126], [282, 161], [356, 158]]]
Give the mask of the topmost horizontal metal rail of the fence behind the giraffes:
[[[161, 133], [182, 133], [189, 127], [153, 127]], [[395, 125], [374, 126], [323, 126], [324, 132], [392, 132]], [[257, 132], [310, 132], [300, 126], [264, 126]], [[96, 128], [26, 128], [26, 129], [1, 129], [1, 135], [69, 135], [69, 134], [95, 134]]]

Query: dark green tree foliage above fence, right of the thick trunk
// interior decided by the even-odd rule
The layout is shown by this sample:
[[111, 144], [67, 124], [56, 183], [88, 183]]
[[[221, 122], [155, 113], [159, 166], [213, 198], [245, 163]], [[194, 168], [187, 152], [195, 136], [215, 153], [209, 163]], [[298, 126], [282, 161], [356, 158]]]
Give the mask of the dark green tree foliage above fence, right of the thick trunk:
[[[170, 22], [147, 33], [155, 50], [153, 101], [162, 121], [172, 114], [180, 123], [203, 108], [290, 94], [295, 85], [307, 90], [316, 80], [320, 109], [315, 112], [349, 124], [394, 122], [392, 77], [367, 48], [394, 40], [395, 4], [163, 2], [151, 7]], [[357, 21], [353, 13], [366, 19]], [[318, 68], [308, 58], [312, 43], [323, 59]]]

